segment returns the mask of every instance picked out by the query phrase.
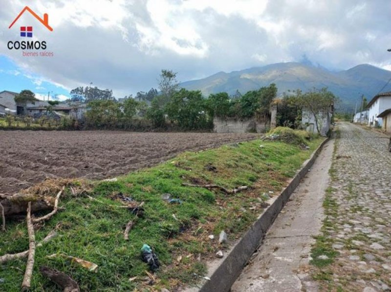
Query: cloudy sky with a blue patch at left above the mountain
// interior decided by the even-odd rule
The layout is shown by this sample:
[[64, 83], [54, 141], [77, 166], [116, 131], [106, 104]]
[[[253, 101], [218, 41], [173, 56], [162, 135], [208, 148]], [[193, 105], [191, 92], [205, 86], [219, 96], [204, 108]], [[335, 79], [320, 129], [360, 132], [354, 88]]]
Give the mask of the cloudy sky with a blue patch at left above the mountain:
[[[306, 56], [330, 70], [369, 63], [391, 70], [390, 0], [0, 0], [0, 91], [52, 92], [93, 83], [119, 98], [157, 87], [162, 68], [180, 81]], [[24, 6], [29, 13], [8, 28]], [[53, 57], [9, 50], [46, 41]]]

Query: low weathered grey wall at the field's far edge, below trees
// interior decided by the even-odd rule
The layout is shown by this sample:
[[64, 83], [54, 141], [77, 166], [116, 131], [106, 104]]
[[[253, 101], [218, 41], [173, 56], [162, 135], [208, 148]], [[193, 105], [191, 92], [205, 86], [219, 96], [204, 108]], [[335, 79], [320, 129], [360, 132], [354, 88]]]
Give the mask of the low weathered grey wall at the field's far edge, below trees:
[[265, 133], [270, 128], [270, 121], [257, 121], [256, 119], [218, 118], [213, 119], [215, 133]]

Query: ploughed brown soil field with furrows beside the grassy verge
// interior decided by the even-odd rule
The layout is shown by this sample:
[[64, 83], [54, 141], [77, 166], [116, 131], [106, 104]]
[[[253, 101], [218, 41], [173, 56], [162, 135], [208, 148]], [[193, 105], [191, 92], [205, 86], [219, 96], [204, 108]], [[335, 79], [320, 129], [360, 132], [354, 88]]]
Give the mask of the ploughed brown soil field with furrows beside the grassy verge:
[[103, 179], [257, 134], [0, 131], [0, 193], [47, 177]]

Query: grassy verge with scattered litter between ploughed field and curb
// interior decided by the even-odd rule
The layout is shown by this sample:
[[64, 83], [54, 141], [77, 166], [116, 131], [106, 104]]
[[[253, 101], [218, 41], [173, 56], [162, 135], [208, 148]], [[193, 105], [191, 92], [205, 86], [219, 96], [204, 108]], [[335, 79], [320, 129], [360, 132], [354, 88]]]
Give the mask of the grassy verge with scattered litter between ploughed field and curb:
[[[194, 273], [204, 274], [204, 262], [214, 258], [214, 253], [221, 248], [218, 233], [225, 230], [230, 240], [239, 238], [262, 212], [261, 200], [266, 197], [262, 193], [280, 191], [287, 178], [295, 175], [322, 141], [323, 138], [317, 138], [309, 142], [310, 150], [282, 142], [255, 140], [198, 153], [185, 152], [156, 167], [120, 177], [117, 182], [98, 183], [91, 196], [101, 202], [85, 196], [73, 197], [66, 190], [60, 201], [65, 210], [36, 231], [39, 242], [58, 222], [63, 223], [60, 236], [36, 251], [33, 291], [58, 290], [39, 273], [38, 267], [42, 265], [67, 273], [79, 283], [82, 291], [148, 289], [145, 281], [148, 266], [140, 257], [144, 243], [152, 246], [162, 263], [156, 274], [155, 290], [196, 283], [199, 278]], [[208, 170], [208, 165], [216, 167], [216, 172]], [[252, 188], [227, 195], [204, 188], [183, 187], [183, 182]], [[120, 205], [109, 198], [118, 192], [137, 202], [145, 202], [144, 217], [138, 218], [130, 230], [129, 241], [124, 240], [123, 230], [134, 215], [127, 209], [109, 206]], [[164, 193], [170, 193], [171, 198], [180, 199], [182, 203], [170, 204], [162, 200]], [[214, 240], [208, 238], [210, 234], [215, 235]], [[7, 221], [0, 248], [0, 254], [28, 248], [24, 221]], [[70, 265], [62, 257], [46, 257], [53, 253], [83, 258], [96, 263], [99, 270], [91, 273]], [[196, 260], [198, 254], [201, 254], [201, 262]], [[179, 262], [178, 256], [181, 256]], [[25, 259], [0, 266], [0, 278], [4, 279], [0, 290], [18, 291], [24, 268]], [[135, 280], [129, 280], [135, 276], [138, 276]]]

